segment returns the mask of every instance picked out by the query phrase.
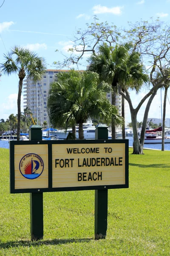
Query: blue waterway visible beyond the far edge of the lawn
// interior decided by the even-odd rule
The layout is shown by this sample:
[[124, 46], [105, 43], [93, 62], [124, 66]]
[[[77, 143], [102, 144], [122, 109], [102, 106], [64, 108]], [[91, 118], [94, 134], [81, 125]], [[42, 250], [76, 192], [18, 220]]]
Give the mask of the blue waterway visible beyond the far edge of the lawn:
[[[126, 139], [129, 140], [129, 146], [133, 146], [133, 137], [126, 137]], [[0, 140], [0, 148], [8, 148], [9, 149], [9, 143], [8, 141]], [[161, 143], [158, 144], [144, 144], [144, 148], [151, 148], [151, 149], [159, 149], [161, 150]], [[170, 150], [170, 143], [164, 144], [165, 150]]]

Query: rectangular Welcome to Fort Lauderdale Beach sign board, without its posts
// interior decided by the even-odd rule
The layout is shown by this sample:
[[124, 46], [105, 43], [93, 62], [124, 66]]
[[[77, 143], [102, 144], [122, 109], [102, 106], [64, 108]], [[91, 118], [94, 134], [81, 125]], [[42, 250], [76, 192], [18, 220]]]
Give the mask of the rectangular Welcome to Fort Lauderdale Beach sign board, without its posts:
[[11, 193], [127, 187], [128, 140], [10, 142]]

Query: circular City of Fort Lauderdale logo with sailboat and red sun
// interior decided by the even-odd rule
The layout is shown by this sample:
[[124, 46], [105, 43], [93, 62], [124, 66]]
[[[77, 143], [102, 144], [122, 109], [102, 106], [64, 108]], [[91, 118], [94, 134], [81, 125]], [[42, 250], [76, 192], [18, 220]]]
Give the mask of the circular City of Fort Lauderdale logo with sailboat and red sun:
[[20, 160], [19, 169], [26, 179], [33, 180], [42, 174], [44, 163], [39, 155], [30, 153]]

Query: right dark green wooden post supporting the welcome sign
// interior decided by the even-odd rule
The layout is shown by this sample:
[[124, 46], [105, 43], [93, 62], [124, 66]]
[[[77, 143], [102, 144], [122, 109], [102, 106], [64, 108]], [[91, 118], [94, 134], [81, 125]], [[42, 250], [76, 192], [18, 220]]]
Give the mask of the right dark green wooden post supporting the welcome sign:
[[[97, 125], [95, 139], [108, 139], [108, 126]], [[95, 190], [95, 239], [105, 239], [108, 226], [108, 189]]]

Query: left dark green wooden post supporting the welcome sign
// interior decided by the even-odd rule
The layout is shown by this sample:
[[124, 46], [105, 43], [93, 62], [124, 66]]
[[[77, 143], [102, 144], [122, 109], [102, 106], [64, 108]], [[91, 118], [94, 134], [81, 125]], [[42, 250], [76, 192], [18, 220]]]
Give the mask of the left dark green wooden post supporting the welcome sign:
[[[29, 140], [42, 140], [42, 127], [32, 125]], [[31, 240], [43, 239], [43, 193], [30, 193]]]

